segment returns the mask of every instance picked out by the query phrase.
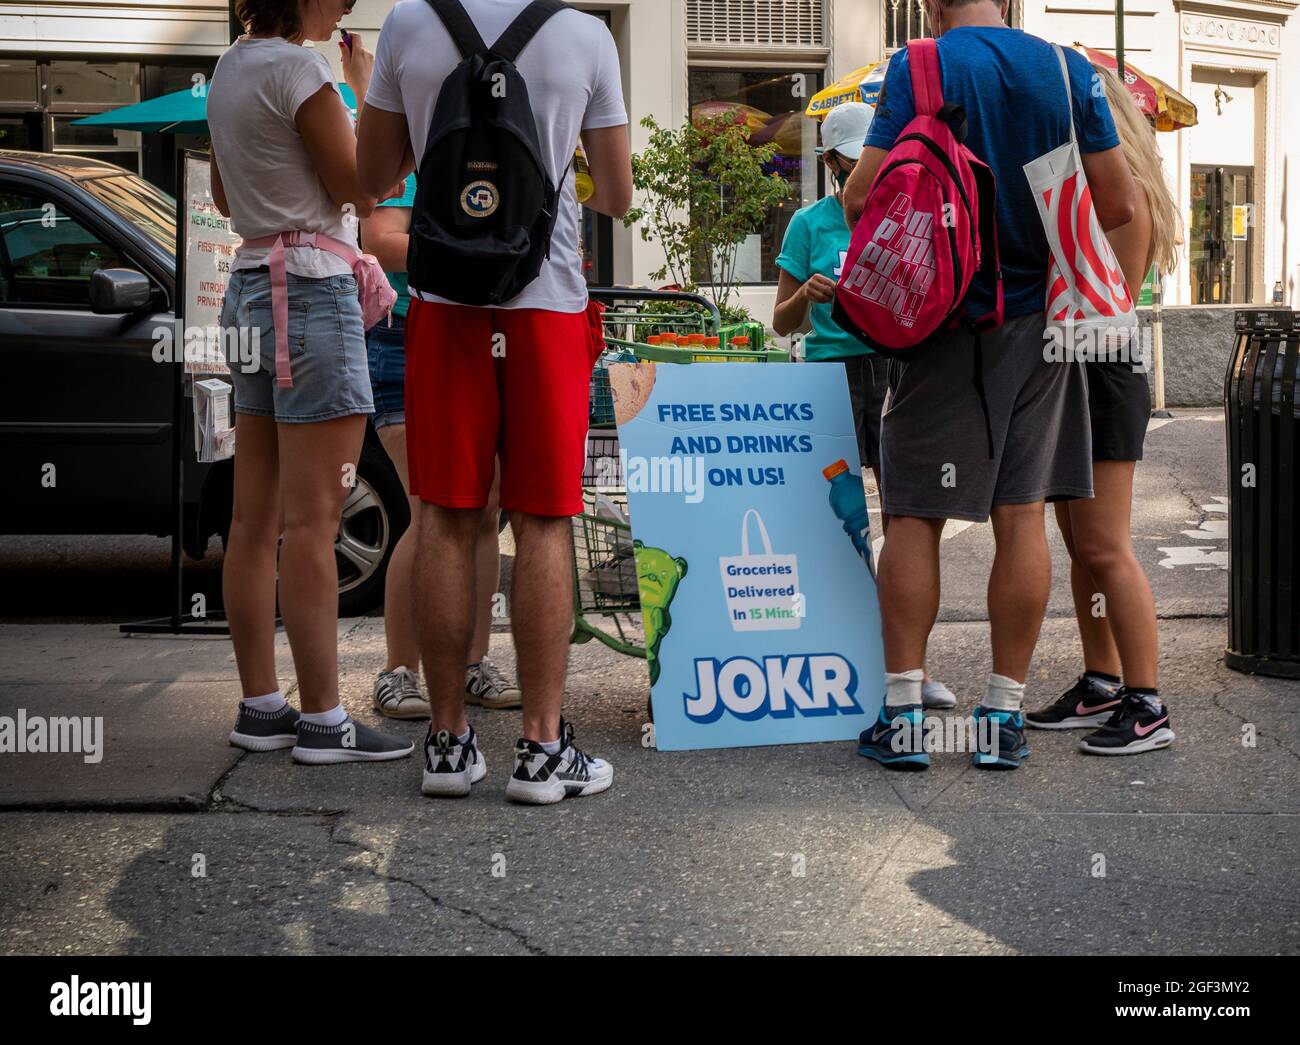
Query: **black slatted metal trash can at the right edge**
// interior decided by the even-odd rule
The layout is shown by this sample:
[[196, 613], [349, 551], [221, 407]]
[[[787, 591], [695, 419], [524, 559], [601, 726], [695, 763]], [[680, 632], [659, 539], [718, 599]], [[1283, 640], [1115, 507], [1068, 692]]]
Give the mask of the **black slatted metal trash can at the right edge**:
[[1236, 671], [1300, 678], [1300, 313], [1236, 313], [1227, 413], [1228, 645]]

